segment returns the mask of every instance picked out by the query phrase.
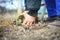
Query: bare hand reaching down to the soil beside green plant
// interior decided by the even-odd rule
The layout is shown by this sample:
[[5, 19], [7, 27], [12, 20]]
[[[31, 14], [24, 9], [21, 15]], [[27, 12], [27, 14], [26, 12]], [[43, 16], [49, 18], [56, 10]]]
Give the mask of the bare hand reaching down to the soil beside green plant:
[[36, 17], [30, 16], [27, 13], [28, 13], [28, 11], [24, 12], [25, 19], [23, 21], [23, 25], [31, 26], [33, 23], [35, 23]]

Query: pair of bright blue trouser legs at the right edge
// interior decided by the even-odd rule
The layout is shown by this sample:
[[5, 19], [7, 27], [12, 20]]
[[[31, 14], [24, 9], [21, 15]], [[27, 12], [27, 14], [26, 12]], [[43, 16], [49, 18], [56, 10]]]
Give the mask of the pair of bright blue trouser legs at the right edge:
[[60, 0], [45, 0], [48, 17], [60, 16]]

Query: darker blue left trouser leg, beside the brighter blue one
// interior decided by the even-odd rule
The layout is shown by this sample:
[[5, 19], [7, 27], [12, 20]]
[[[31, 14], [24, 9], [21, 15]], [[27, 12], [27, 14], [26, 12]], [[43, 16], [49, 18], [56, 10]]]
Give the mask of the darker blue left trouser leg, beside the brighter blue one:
[[55, 0], [45, 0], [47, 11], [48, 11], [48, 17], [57, 15], [56, 12], [56, 1]]

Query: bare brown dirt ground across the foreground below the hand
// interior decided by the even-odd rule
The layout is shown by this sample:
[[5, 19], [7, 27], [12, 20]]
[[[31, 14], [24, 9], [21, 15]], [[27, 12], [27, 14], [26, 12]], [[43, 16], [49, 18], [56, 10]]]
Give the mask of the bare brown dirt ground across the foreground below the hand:
[[[4, 23], [5, 21], [7, 23]], [[48, 23], [38, 22], [26, 28], [10, 22], [11, 20], [7, 21], [7, 19], [0, 21], [0, 40], [60, 40], [60, 27], [49, 28]]]

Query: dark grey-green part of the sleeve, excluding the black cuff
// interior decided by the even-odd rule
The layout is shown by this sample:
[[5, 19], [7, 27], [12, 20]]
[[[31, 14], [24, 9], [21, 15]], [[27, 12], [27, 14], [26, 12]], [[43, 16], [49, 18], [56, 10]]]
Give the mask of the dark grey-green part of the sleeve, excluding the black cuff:
[[25, 0], [25, 7], [28, 10], [38, 10], [41, 5], [41, 0]]

